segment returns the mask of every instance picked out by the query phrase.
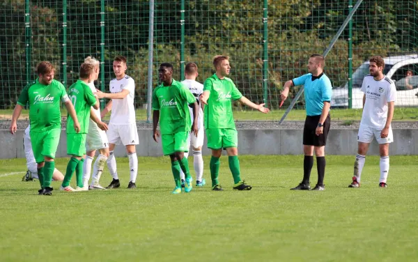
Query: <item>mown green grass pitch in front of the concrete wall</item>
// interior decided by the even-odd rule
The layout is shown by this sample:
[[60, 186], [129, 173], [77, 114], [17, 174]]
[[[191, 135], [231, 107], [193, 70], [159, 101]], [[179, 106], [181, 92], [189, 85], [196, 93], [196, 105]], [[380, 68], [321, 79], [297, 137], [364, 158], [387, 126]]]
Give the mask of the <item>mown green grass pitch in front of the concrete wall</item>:
[[[418, 156], [391, 157], [387, 188], [378, 187], [378, 157], [367, 157], [362, 187], [348, 188], [353, 160], [328, 156], [326, 190], [292, 192], [302, 156], [241, 156], [254, 187], [234, 192], [223, 157], [224, 192], [172, 195], [167, 158], [139, 158], [137, 190], [125, 189], [120, 158], [123, 188], [53, 196], [20, 182], [24, 160], [0, 160], [0, 261], [417, 261]], [[110, 180], [105, 171], [102, 184]]]

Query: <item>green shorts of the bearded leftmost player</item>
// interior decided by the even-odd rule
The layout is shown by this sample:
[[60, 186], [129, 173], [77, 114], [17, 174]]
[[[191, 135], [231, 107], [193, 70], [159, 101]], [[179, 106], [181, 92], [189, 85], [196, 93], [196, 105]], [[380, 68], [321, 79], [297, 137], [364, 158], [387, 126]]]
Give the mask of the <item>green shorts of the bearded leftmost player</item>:
[[29, 134], [31, 135], [33, 156], [37, 163], [44, 162], [44, 157], [55, 158], [61, 128], [54, 128], [43, 132], [31, 130]]

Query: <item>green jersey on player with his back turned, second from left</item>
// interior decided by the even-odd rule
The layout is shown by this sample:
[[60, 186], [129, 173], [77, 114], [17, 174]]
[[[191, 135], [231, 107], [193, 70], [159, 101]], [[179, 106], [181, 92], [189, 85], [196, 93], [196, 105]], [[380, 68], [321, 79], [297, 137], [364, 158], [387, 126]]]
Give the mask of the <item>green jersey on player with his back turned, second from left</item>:
[[[74, 106], [77, 119], [80, 123], [79, 134], [87, 134], [88, 119], [90, 118], [90, 107], [97, 101], [91, 91], [90, 87], [82, 80], [78, 80], [68, 89], [68, 97]], [[76, 133], [74, 130], [74, 120], [68, 116], [67, 120], [67, 134]]]

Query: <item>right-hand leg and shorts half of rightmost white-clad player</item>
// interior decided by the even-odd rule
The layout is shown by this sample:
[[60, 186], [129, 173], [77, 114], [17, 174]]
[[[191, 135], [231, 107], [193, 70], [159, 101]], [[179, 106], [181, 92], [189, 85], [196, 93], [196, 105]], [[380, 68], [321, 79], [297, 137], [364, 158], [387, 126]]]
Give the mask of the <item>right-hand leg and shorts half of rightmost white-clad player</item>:
[[387, 187], [387, 176], [389, 175], [389, 144], [394, 141], [392, 128], [389, 128], [387, 137], [380, 137], [382, 130], [373, 130], [379, 144], [380, 152], [380, 180], [379, 187]]

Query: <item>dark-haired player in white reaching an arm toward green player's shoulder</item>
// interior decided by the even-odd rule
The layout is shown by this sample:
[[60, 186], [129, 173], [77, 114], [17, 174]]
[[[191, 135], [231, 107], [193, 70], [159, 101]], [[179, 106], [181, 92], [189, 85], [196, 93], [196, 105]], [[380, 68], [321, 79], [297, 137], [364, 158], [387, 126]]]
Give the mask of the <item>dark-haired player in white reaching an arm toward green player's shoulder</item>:
[[116, 144], [122, 142], [126, 147], [127, 157], [129, 158], [130, 183], [127, 188], [137, 187], [135, 182], [138, 173], [138, 157], [135, 145], [139, 144], [137, 122], [135, 120], [135, 82], [132, 77], [125, 74], [127, 70], [126, 58], [116, 56], [113, 63], [113, 70], [116, 78], [111, 79], [109, 88], [111, 93], [102, 93], [98, 91], [98, 98], [111, 99], [102, 111], [102, 118], [107, 112], [111, 111], [109, 130], [107, 138], [109, 139], [109, 157], [107, 158], [107, 167], [113, 178], [107, 188], [117, 188], [121, 186], [116, 171], [116, 159], [114, 148]]

